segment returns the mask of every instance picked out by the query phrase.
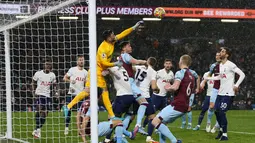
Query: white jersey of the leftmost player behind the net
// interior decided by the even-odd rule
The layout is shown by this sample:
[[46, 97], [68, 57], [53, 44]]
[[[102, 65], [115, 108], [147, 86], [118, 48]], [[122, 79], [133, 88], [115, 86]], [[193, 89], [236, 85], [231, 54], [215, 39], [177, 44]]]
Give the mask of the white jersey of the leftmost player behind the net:
[[50, 86], [56, 83], [56, 75], [53, 72], [46, 74], [40, 70], [35, 73], [33, 80], [37, 81], [35, 94], [50, 97]]

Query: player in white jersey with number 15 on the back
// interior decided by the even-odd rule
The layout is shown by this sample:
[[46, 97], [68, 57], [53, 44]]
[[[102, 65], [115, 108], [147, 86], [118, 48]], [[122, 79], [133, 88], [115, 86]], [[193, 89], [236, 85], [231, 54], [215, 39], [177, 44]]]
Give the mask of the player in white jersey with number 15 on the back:
[[147, 143], [156, 143], [151, 138], [151, 135], [154, 130], [154, 126], [152, 125], [152, 120], [155, 115], [155, 108], [151, 100], [150, 96], [150, 87], [152, 90], [158, 91], [157, 82], [156, 82], [156, 74], [157, 72], [154, 70], [154, 66], [156, 65], [157, 60], [154, 57], [150, 57], [147, 60], [148, 66], [135, 66], [136, 74], [135, 74], [135, 82], [137, 87], [142, 91], [142, 96], [146, 98], [148, 102], [148, 106], [146, 108], [145, 115], [148, 117], [148, 135], [146, 138]]

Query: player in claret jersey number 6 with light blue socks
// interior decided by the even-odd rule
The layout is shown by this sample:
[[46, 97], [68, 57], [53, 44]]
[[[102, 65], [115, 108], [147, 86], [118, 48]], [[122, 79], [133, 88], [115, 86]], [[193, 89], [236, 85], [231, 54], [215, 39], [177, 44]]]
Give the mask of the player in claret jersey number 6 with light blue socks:
[[175, 74], [173, 85], [170, 83], [165, 86], [167, 91], [176, 91], [176, 96], [171, 105], [166, 106], [152, 121], [152, 124], [160, 132], [160, 143], [165, 143], [168, 138], [172, 143], [181, 143], [170, 132], [165, 123], [172, 123], [177, 118], [188, 112], [189, 98], [195, 85], [195, 78], [189, 70], [191, 57], [183, 55], [179, 61], [181, 70]]

